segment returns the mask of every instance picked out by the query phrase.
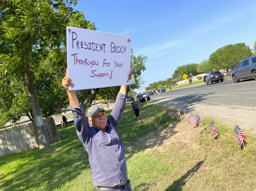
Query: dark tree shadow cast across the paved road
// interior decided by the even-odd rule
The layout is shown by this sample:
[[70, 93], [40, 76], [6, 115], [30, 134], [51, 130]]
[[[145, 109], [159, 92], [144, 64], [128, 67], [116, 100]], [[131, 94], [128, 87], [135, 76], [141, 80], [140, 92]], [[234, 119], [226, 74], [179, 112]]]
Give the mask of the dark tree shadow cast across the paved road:
[[187, 109], [190, 108], [190, 111], [186, 111], [188, 112], [193, 112], [193, 105], [196, 105], [200, 102], [202, 102], [203, 100], [206, 100], [206, 96], [207, 95], [211, 95], [214, 94], [214, 92], [211, 93], [196, 93], [196, 94], [189, 94], [189, 95], [185, 95], [185, 96], [181, 96], [181, 97], [176, 97], [174, 99], [172, 99], [172, 97], [169, 97], [170, 100], [166, 101], [166, 99], [164, 99], [163, 101], [161, 101], [162, 99], [156, 99], [156, 100], [152, 100], [152, 103], [157, 102], [157, 104], [159, 105], [165, 105], [165, 106], [169, 106], [175, 109], [180, 109], [180, 111], [184, 111], [183, 109]]

